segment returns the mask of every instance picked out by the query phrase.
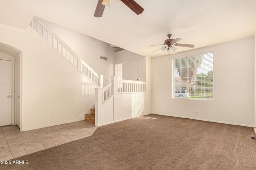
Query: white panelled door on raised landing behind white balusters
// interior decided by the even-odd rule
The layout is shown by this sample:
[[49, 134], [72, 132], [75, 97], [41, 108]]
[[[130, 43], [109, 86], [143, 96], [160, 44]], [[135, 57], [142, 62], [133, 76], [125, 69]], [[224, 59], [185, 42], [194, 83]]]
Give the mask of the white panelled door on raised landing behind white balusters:
[[139, 80], [139, 60], [125, 62], [124, 69], [125, 80]]

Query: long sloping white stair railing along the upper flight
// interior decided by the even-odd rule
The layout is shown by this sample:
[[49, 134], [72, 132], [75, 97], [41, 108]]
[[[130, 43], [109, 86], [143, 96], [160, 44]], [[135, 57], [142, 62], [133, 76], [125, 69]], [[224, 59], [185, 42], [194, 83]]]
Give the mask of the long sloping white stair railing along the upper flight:
[[55, 35], [42, 21], [34, 17], [30, 22], [32, 30], [36, 31], [50, 46], [68, 61], [74, 68], [81, 72], [98, 88], [103, 88], [103, 75], [97, 74], [88, 64], [80, 59], [57, 35]]

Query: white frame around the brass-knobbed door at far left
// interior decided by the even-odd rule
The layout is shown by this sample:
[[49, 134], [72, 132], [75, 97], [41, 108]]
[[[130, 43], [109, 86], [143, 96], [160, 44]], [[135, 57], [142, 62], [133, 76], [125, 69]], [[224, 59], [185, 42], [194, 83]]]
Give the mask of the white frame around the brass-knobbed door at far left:
[[[12, 57], [12, 56], [11, 56]], [[14, 57], [13, 57], [14, 58]], [[14, 58], [15, 59], [15, 58]], [[12, 62], [12, 125], [15, 124], [15, 114], [14, 114], [14, 99], [15, 99], [15, 86], [14, 86], [14, 82], [15, 82], [15, 78], [14, 78], [14, 59], [11, 58], [5, 58], [5, 57], [0, 57], [0, 60], [6, 60], [6, 61], [11, 61]]]

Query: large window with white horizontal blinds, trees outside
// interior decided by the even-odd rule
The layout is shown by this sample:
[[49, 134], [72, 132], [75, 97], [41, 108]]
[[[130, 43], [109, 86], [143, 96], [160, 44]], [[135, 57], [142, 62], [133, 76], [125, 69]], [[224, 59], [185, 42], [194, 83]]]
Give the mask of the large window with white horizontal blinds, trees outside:
[[213, 98], [213, 51], [172, 59], [172, 98]]

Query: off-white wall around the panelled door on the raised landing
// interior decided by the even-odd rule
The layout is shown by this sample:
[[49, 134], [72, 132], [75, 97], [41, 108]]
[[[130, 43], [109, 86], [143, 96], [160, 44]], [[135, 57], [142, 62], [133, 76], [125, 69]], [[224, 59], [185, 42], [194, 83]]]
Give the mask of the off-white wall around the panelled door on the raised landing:
[[[142, 55], [138, 55], [136, 53], [132, 53], [131, 51], [127, 51], [127, 50], [117, 51], [115, 52], [114, 56], [115, 56], [114, 63], [115, 64], [123, 63], [123, 66], [125, 61], [138, 59], [139, 60], [139, 76], [140, 76], [139, 81], [142, 81], [142, 82], [146, 81], [146, 57]], [[123, 71], [123, 74], [124, 74], [124, 71]]]

